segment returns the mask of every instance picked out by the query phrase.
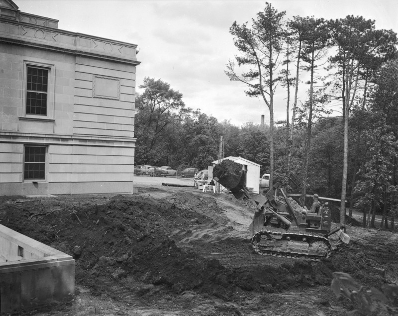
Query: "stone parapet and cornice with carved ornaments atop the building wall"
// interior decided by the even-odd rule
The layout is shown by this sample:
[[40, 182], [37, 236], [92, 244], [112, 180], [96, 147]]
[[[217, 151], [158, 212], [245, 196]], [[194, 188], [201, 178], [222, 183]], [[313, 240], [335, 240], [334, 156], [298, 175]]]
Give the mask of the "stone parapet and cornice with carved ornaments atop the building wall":
[[136, 44], [0, 17], [0, 41], [139, 65]]

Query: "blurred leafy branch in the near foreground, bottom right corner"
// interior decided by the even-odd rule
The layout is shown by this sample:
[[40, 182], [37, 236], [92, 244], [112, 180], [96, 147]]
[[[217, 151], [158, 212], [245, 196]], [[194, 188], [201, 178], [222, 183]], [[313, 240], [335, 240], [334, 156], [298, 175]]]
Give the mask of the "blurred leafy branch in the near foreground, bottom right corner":
[[386, 306], [388, 303], [394, 303], [395, 299], [398, 297], [398, 285], [396, 284], [384, 286], [383, 292], [376, 288], [371, 288], [367, 291], [363, 286], [355, 282], [349, 274], [334, 272], [330, 287], [337, 298], [343, 296], [357, 307], [350, 315], [354, 315], [356, 312], [363, 315], [372, 315], [372, 313], [376, 311], [378, 305], [386, 311], [388, 315], [397, 315], [390, 312]]

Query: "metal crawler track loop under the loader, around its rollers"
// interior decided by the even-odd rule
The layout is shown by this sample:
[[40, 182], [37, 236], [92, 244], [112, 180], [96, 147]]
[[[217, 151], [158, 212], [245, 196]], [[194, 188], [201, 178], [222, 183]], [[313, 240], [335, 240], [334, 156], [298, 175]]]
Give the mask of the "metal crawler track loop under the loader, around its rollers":
[[[308, 237], [311, 239], [315, 239], [318, 241], [323, 241], [326, 246], [327, 246], [327, 252], [324, 255], [314, 255], [314, 254], [307, 254], [303, 252], [295, 252], [295, 251], [282, 251], [282, 250], [277, 250], [277, 249], [260, 249], [259, 243], [257, 242], [258, 238], [261, 238], [261, 235], [278, 235], [278, 236], [286, 236], [286, 237]], [[294, 259], [299, 259], [299, 258], [304, 258], [304, 259], [311, 259], [313, 261], [319, 261], [322, 258], [328, 258], [331, 254], [332, 246], [330, 244], [329, 239], [327, 239], [323, 235], [319, 234], [313, 234], [313, 233], [302, 233], [302, 232], [279, 232], [279, 231], [274, 231], [274, 230], [261, 230], [258, 231], [257, 233], [254, 234], [252, 237], [252, 247], [253, 250], [260, 254], [260, 255], [270, 255], [274, 257], [284, 257], [284, 258], [294, 258]]]

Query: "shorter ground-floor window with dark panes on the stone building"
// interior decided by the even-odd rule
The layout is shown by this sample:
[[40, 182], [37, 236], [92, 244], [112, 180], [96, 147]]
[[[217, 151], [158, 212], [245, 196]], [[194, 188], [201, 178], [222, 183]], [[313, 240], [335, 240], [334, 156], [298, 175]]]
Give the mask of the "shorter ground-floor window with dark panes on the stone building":
[[44, 180], [46, 171], [46, 147], [25, 146], [23, 160], [24, 180]]

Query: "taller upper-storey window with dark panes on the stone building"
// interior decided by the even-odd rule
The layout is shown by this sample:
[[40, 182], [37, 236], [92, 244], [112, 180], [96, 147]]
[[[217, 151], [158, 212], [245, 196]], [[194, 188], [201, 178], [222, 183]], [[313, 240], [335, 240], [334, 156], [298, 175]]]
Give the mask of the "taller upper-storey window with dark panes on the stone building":
[[26, 114], [47, 115], [48, 70], [27, 67]]

